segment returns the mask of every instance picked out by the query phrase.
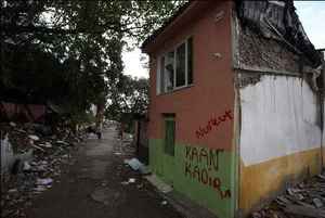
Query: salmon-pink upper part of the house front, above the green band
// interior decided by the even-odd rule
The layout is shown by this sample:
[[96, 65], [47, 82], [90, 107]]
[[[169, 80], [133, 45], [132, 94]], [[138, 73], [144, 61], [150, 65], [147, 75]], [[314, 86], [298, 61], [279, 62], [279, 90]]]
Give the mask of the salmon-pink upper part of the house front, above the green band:
[[[222, 116], [234, 108], [234, 86], [231, 55], [231, 1], [209, 1], [192, 10], [186, 23], [168, 28], [164, 39], [152, 46], [150, 129], [152, 139], [164, 138], [162, 113], [174, 113], [179, 143], [204, 144], [209, 148], [230, 150], [233, 120], [226, 119], [202, 138], [195, 131], [207, 127], [210, 118]], [[224, 16], [214, 22], [216, 14]], [[184, 16], [183, 16], [184, 17]], [[193, 37], [194, 82], [192, 87], [172, 93], [156, 94], [157, 56], [171, 50], [186, 37]], [[158, 44], [157, 44], [158, 43]], [[220, 53], [221, 59], [213, 56]]]

